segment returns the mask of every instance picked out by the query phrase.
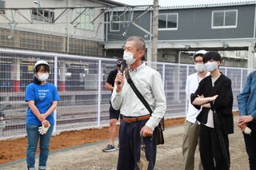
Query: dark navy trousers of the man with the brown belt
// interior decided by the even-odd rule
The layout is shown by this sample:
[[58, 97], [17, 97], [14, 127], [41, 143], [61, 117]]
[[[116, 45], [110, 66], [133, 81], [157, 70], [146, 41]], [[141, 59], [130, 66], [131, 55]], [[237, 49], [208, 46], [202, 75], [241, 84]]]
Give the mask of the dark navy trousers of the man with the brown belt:
[[[138, 170], [137, 162], [140, 159], [141, 150], [140, 132], [146, 121], [148, 119], [133, 123], [122, 121], [119, 128], [118, 170], [134, 170], [134, 168]], [[149, 170], [154, 169], [157, 151], [155, 132], [153, 135], [153, 140], [150, 140], [150, 137], [144, 137], [146, 159], [150, 162]]]

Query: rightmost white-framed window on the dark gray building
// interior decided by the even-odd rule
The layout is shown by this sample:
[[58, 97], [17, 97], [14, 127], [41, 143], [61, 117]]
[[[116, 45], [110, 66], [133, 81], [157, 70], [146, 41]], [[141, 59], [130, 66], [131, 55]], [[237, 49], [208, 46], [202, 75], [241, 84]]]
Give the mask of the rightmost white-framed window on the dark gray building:
[[218, 10], [212, 12], [212, 28], [236, 28], [238, 10]]

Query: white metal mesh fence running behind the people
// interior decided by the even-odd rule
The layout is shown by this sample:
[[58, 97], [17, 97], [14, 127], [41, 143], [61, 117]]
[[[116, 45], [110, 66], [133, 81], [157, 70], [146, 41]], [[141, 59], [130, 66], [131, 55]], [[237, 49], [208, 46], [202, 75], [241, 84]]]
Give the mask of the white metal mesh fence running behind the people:
[[[54, 111], [54, 132], [109, 125], [110, 90], [106, 78], [116, 69], [116, 59], [79, 57], [64, 54], [0, 50], [0, 139], [26, 136], [26, 86], [34, 77], [38, 60], [50, 64], [49, 82], [58, 87], [61, 101]], [[185, 117], [186, 77], [195, 73], [194, 65], [146, 62], [162, 75], [166, 93], [166, 118]], [[220, 67], [230, 77], [234, 94], [234, 110], [238, 110], [237, 95], [242, 91], [251, 70]], [[146, 76], [146, 75], [145, 75]]]

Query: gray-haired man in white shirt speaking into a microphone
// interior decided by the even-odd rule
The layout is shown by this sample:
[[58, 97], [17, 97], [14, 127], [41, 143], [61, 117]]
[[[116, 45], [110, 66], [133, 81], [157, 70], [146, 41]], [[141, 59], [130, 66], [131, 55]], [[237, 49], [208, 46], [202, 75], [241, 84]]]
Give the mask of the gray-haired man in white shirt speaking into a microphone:
[[126, 71], [129, 71], [134, 85], [153, 110], [151, 115], [127, 83], [124, 73], [118, 73], [115, 78], [111, 102], [113, 108], [120, 109], [122, 114], [117, 169], [138, 169], [142, 132], [146, 159], [149, 161], [148, 169], [154, 169], [156, 159], [154, 128], [166, 112], [166, 96], [160, 73], [146, 66], [145, 63], [142, 64], [141, 57], [145, 53], [145, 48], [146, 44], [142, 38], [130, 37], [126, 42], [123, 59], [130, 65], [130, 69]]

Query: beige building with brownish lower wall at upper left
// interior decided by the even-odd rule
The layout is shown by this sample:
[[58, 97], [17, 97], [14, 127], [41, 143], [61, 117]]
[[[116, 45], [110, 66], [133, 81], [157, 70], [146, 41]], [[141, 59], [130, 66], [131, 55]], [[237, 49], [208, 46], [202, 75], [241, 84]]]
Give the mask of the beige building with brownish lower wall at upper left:
[[[124, 4], [110, 0], [2, 0], [0, 46], [102, 56], [99, 42], [105, 38], [104, 24], [100, 24], [104, 15], [98, 15], [106, 6]], [[94, 24], [90, 23], [94, 19]]]

